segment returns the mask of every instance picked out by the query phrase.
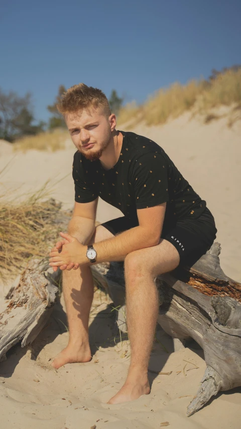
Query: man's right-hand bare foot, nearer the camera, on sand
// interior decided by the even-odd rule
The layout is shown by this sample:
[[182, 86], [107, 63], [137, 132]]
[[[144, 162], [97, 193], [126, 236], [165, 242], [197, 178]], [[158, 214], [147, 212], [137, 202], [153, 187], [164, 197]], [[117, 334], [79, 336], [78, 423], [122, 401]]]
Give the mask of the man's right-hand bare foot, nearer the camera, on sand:
[[[128, 377], [129, 379], [129, 377]], [[124, 386], [114, 395], [107, 404], [121, 404], [122, 402], [134, 401], [142, 395], [148, 395], [151, 391], [147, 376], [141, 375], [139, 379], [127, 379]]]

